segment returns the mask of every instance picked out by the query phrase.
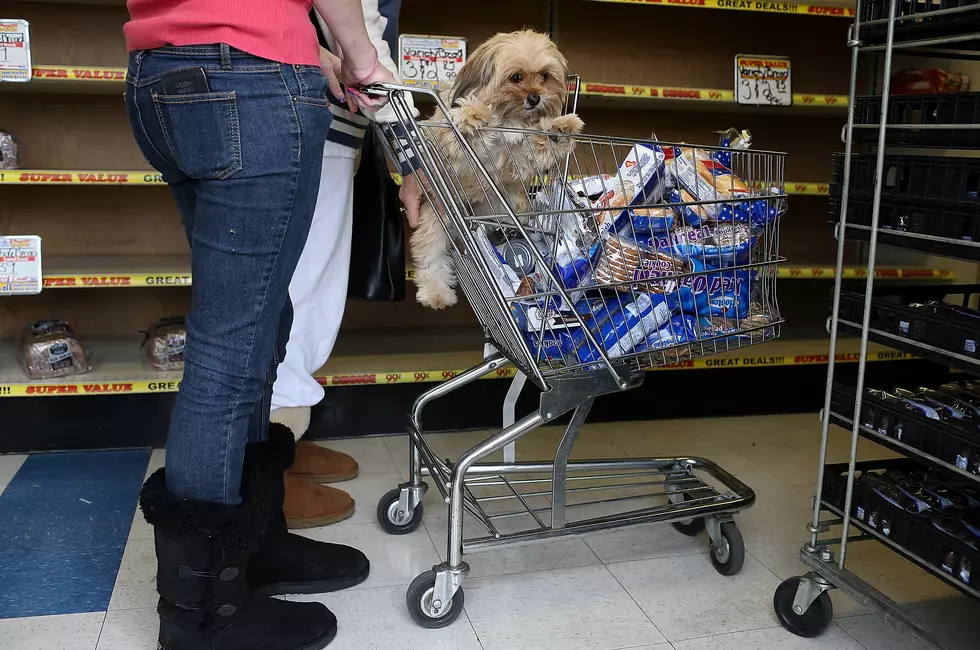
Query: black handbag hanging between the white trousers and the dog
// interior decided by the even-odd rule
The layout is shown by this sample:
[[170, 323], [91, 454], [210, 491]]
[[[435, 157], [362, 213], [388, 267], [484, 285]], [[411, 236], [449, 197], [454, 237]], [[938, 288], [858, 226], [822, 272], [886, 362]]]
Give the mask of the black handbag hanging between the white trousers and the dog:
[[398, 186], [385, 164], [384, 145], [369, 128], [354, 175], [354, 223], [347, 296], [405, 299], [405, 231]]

